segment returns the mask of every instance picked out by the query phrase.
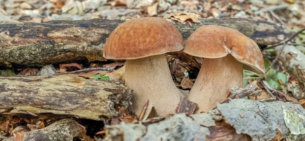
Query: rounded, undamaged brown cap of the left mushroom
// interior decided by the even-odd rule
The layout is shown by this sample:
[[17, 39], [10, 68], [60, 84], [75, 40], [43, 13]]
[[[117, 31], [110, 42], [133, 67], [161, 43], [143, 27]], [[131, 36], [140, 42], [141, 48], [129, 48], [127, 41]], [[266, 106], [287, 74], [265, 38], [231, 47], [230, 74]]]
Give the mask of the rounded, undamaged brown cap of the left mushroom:
[[169, 21], [144, 17], [116, 27], [105, 43], [107, 59], [138, 59], [183, 49], [181, 33]]

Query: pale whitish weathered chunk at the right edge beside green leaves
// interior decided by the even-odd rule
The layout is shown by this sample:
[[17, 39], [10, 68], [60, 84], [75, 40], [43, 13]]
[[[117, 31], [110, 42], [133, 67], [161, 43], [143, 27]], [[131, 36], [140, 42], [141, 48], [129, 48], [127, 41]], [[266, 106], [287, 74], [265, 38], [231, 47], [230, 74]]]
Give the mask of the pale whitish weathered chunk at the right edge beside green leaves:
[[[282, 52], [283, 50], [283, 52]], [[297, 99], [305, 98], [305, 55], [296, 49], [293, 45], [282, 45], [276, 47], [277, 54], [280, 54], [279, 59], [283, 62], [283, 65], [287, 68], [290, 74], [294, 75], [300, 84], [292, 84], [293, 97]]]

